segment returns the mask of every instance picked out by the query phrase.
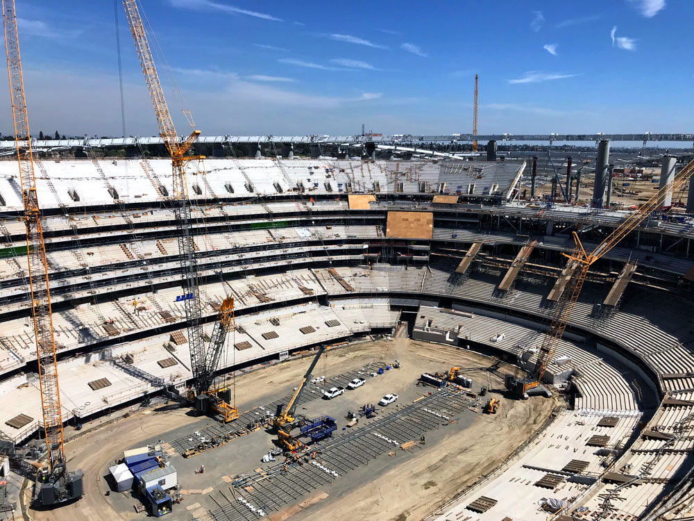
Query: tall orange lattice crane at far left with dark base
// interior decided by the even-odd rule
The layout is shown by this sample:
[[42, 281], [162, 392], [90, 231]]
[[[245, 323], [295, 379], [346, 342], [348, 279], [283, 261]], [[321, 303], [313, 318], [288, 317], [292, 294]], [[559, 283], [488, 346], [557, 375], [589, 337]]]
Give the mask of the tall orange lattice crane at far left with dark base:
[[35, 493], [42, 506], [56, 506], [82, 497], [83, 473], [81, 470], [68, 472], [66, 466], [46, 245], [43, 238], [42, 216], [31, 153], [31, 135], [29, 134], [26, 115], [15, 1], [2, 0], [2, 9], [10, 99], [12, 101], [12, 121], [15, 124], [15, 144], [17, 146], [17, 163], [19, 163], [19, 183], [24, 201], [26, 256], [28, 258], [31, 312], [38, 361], [41, 411], [48, 450], [48, 466], [41, 470], [37, 477]]

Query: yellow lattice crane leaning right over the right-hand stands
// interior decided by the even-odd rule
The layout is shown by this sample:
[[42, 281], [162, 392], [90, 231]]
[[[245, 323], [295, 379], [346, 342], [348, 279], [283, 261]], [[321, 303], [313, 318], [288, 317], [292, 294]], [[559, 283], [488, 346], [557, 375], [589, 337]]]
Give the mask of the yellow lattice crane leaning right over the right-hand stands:
[[[527, 397], [529, 397], [528, 391], [532, 392], [532, 390], [540, 386], [543, 374], [545, 374], [545, 371], [552, 362], [557, 346], [559, 345], [559, 340], [561, 340], [561, 336], [564, 335], [564, 330], [570, 320], [571, 313], [573, 313], [573, 309], [578, 301], [583, 283], [586, 280], [591, 266], [611, 251], [611, 249], [616, 247], [623, 238], [636, 229], [636, 226], [648, 219], [654, 212], [660, 210], [668, 192], [680, 190], [684, 187], [692, 174], [694, 174], [694, 160], [691, 160], [679, 171], [672, 183], [668, 183], [658, 190], [658, 192], [641, 205], [638, 210], [630, 214], [629, 217], [617, 226], [616, 229], [591, 252], [586, 252], [578, 234], [575, 231], [573, 232], [575, 248], [571, 254], [562, 255], [568, 258], [568, 263], [577, 263], [577, 267], [573, 271], [573, 274], [571, 274], [570, 279], [566, 283], [564, 292], [561, 293], [561, 297], [559, 297], [557, 301], [557, 306], [552, 313], [552, 322], [545, 333], [534, 367], [521, 377], [519, 377], [518, 370], [516, 370], [516, 374], [507, 374], [505, 378], [507, 389], [523, 397], [523, 399], [527, 399]], [[523, 354], [519, 356], [519, 359], [523, 360]], [[544, 390], [542, 393], [545, 395], [547, 394]]]

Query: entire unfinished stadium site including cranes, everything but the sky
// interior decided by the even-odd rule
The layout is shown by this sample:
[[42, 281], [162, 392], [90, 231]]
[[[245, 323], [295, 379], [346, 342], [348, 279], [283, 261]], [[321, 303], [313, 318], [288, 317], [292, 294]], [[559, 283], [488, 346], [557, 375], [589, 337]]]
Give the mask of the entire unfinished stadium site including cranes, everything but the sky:
[[158, 138], [3, 3], [0, 518], [690, 518], [692, 135], [181, 137], [123, 4]]

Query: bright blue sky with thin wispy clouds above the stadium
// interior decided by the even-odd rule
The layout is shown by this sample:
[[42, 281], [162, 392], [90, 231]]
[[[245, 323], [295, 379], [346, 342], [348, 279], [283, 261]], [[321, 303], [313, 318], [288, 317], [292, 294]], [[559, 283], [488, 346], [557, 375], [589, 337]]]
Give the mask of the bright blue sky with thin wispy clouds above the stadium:
[[[139, 4], [204, 135], [470, 132], [475, 74], [480, 133], [692, 131], [689, 1]], [[117, 14], [126, 133], [153, 135]], [[121, 135], [113, 3], [22, 1], [17, 16], [32, 133]], [[6, 82], [0, 99], [9, 132]]]

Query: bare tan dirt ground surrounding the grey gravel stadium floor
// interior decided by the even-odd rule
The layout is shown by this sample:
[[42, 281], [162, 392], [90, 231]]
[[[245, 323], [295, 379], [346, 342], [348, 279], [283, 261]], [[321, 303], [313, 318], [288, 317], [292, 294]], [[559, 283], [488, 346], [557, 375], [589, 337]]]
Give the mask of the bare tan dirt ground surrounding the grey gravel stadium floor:
[[[421, 372], [444, 370], [452, 365], [462, 367], [463, 374], [472, 378], [477, 386], [482, 383], [491, 385], [491, 388], [502, 388], [500, 377], [486, 370], [493, 363], [489, 358], [448, 346], [413, 342], [407, 338], [366, 342], [330, 351], [328, 356], [319, 362], [314, 375], [325, 373], [330, 376], [357, 369], [365, 363], [390, 363], [396, 358], [402, 363], [403, 369], [388, 374], [378, 381], [378, 385], [375, 381], [372, 384], [370, 380], [369, 386], [373, 385], [373, 388], [369, 392], [373, 392], [374, 395], [382, 395], [384, 390], [390, 392], [388, 388], [392, 385], [393, 379], [402, 381], [400, 385], [412, 386]], [[264, 404], [273, 397], [289, 392], [301, 380], [306, 367], [307, 358], [303, 358], [237, 377], [236, 399], [239, 410]], [[504, 372], [503, 368], [499, 370], [500, 373]], [[497, 415], [477, 415], [471, 427], [464, 430], [446, 427], [435, 431], [431, 438], [428, 436], [426, 446], [420, 451], [385, 460], [387, 470], [378, 477], [372, 475], [378, 466], [372, 465], [368, 465], [364, 470], [355, 471], [354, 475], [347, 474], [339, 487], [324, 490], [329, 495], [327, 499], [297, 513], [291, 519], [421, 519], [480, 474], [495, 468], [507, 454], [530, 436], [536, 426], [545, 421], [553, 404], [550, 399], [536, 398], [519, 402], [502, 398], [502, 407]], [[133, 509], [115, 508], [114, 498], [105, 496], [105, 491], [108, 490], [108, 485], [103, 479], [105, 469], [128, 447], [144, 445], [152, 439], [170, 439], [171, 436], [167, 436], [169, 431], [180, 430], [182, 427], [193, 431], [210, 421], [187, 415], [185, 409], [166, 413], [144, 411], [117, 420], [102, 429], [85, 433], [78, 440], [66, 445], [69, 468], [82, 468], [85, 472], [85, 496], [79, 502], [63, 506], [56, 511], [30, 511], [31, 518], [51, 521], [144, 518], [144, 513], [136, 514]], [[196, 456], [194, 460], [190, 460], [189, 465], [184, 465], [187, 460], [174, 458], [173, 464], [179, 470], [179, 481], [184, 488], [185, 483], [196, 479], [188, 475], [190, 472], [187, 466], [192, 467], [200, 463], [207, 466], [208, 461], [202, 459], [203, 456], [207, 457], [212, 465], [214, 458], [223, 457], [224, 453], [218, 451], [232, 445], [233, 443], [230, 443], [205, 453], [208, 456]], [[198, 461], [197, 458], [201, 459]], [[214, 481], [211, 486], [223, 485], [221, 475], [217, 476], [214, 472], [204, 474], [206, 480], [219, 481], [219, 484]], [[189, 503], [200, 501], [204, 505], [205, 499], [201, 496], [192, 497]], [[128, 502], [128, 505], [131, 502]], [[191, 519], [184, 506], [185, 503], [183, 506], [177, 506], [167, 517], [172, 521]]]

